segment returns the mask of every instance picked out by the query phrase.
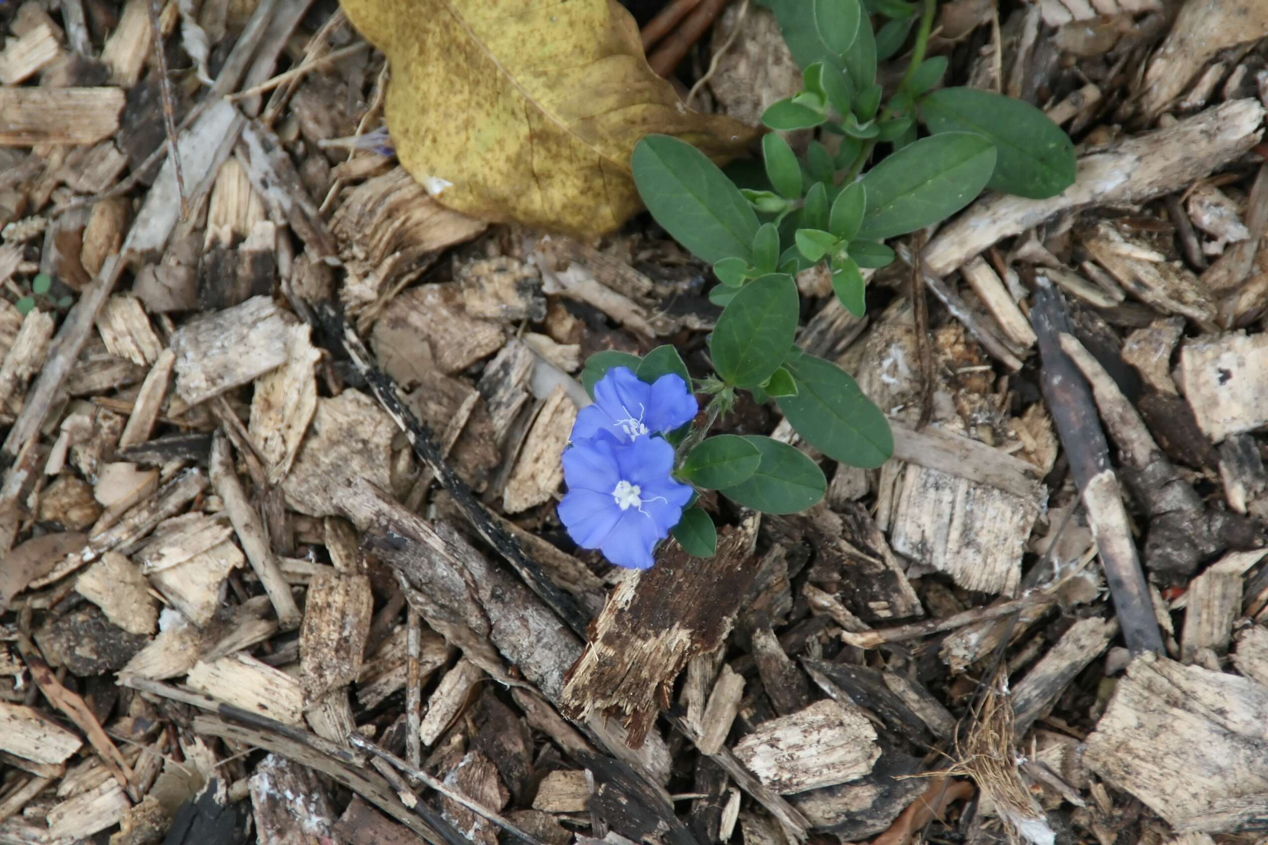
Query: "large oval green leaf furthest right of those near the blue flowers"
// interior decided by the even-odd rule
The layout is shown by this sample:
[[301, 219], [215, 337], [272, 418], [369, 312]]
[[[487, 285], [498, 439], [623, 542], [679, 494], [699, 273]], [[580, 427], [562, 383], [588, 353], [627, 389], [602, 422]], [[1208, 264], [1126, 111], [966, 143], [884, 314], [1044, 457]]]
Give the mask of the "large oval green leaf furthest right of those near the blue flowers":
[[847, 466], [872, 469], [894, 454], [889, 422], [837, 365], [805, 355], [785, 366], [798, 394], [779, 400], [780, 410], [805, 442]]

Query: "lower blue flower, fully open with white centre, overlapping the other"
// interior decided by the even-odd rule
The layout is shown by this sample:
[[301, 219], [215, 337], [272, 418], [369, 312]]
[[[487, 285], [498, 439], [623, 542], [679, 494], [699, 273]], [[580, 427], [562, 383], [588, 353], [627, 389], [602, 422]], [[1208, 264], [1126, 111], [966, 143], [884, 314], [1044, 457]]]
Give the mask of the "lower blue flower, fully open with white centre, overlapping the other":
[[618, 566], [648, 569], [652, 549], [678, 524], [692, 494], [672, 470], [673, 447], [661, 437], [621, 442], [598, 431], [578, 440], [563, 454], [568, 493], [559, 519], [582, 549], [598, 549]]

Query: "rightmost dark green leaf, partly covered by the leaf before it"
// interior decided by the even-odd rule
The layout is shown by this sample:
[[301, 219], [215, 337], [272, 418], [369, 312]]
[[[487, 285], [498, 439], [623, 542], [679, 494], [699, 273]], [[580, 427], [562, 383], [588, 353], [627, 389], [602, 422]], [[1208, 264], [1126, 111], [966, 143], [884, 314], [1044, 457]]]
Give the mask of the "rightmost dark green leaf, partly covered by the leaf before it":
[[1074, 144], [1030, 103], [970, 87], [931, 91], [921, 100], [931, 132], [975, 132], [998, 149], [988, 187], [1044, 199], [1074, 184]]

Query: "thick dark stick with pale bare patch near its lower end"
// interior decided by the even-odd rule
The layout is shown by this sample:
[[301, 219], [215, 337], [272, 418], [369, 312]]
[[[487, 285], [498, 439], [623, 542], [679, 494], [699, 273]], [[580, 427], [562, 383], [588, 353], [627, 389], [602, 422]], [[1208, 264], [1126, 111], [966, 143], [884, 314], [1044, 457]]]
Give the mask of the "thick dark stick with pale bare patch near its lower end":
[[1044, 400], [1079, 486], [1127, 649], [1134, 655], [1144, 651], [1165, 655], [1092, 390], [1079, 369], [1061, 351], [1060, 336], [1070, 333], [1065, 302], [1046, 281], [1036, 283], [1031, 324], [1038, 336], [1044, 360]]

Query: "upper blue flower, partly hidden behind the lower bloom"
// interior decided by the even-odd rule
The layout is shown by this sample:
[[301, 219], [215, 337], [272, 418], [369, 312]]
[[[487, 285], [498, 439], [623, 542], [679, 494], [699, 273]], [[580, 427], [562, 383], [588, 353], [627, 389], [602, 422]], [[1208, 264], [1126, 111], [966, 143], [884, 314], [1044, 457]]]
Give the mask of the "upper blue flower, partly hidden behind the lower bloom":
[[577, 414], [571, 440], [577, 442], [601, 431], [621, 442], [663, 435], [691, 422], [699, 409], [680, 375], [667, 372], [648, 384], [629, 367], [612, 367], [595, 384], [595, 404]]

